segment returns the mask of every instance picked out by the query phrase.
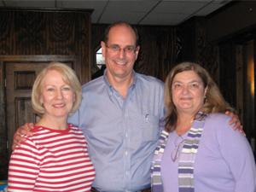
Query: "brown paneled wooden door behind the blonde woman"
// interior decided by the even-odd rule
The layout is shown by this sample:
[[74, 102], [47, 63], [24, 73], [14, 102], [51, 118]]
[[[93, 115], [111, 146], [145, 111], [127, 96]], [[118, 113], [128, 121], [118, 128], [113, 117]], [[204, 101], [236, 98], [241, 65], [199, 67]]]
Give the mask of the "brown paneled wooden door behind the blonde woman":
[[[38, 73], [49, 62], [10, 62], [6, 65], [8, 148], [11, 154], [13, 137], [17, 128], [27, 122], [35, 123], [39, 117], [32, 113], [32, 85]], [[67, 63], [71, 67], [71, 63]]]

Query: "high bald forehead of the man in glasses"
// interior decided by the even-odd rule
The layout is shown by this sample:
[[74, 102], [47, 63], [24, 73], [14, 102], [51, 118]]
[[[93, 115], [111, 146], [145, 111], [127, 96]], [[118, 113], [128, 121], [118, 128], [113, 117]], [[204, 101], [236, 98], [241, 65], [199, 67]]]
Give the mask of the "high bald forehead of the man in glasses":
[[136, 34], [131, 26], [113, 26], [108, 32], [108, 44], [135, 45]]

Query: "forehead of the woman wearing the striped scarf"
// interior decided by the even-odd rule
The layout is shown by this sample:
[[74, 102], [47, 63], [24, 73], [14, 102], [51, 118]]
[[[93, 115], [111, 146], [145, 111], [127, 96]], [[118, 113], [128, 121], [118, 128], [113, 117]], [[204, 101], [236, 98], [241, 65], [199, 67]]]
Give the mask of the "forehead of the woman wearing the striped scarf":
[[182, 73], [177, 73], [173, 78], [173, 83], [175, 81], [180, 82], [191, 82], [191, 81], [198, 81], [202, 83], [201, 77], [195, 73], [195, 71], [183, 71]]

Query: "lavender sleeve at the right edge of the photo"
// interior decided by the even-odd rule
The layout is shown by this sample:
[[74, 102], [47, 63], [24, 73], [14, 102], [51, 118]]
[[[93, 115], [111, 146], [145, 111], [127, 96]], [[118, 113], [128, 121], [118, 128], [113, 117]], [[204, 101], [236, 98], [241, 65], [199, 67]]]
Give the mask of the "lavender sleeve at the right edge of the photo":
[[247, 138], [233, 131], [228, 123], [219, 140], [220, 152], [235, 178], [235, 191], [254, 192], [256, 189], [255, 160]]

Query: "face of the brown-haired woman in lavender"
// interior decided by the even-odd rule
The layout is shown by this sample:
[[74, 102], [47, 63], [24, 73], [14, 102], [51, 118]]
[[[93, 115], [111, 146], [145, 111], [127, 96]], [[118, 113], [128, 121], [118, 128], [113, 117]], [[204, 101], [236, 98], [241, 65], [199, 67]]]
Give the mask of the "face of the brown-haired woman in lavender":
[[177, 73], [172, 81], [172, 102], [177, 113], [195, 115], [204, 104], [207, 88], [200, 76], [194, 71]]

